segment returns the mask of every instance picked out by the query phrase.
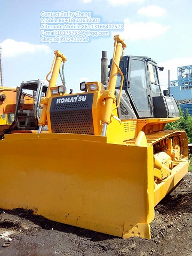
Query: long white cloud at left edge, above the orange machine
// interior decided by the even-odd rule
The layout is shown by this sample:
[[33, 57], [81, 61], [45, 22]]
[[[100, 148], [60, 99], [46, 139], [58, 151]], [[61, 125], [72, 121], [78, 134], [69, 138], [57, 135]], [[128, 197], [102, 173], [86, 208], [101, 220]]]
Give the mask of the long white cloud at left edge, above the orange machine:
[[28, 42], [17, 42], [13, 39], [6, 39], [0, 46], [2, 47], [2, 54], [4, 57], [16, 57], [25, 53], [36, 53], [36, 52], [51, 52], [49, 45], [45, 44], [30, 44]]

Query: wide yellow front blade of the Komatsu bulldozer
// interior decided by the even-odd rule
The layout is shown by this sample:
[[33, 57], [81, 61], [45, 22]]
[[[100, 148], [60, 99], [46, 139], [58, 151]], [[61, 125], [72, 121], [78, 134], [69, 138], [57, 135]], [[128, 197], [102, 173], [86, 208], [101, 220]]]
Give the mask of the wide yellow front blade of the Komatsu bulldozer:
[[153, 146], [82, 134], [6, 134], [0, 207], [114, 236], [150, 238]]

